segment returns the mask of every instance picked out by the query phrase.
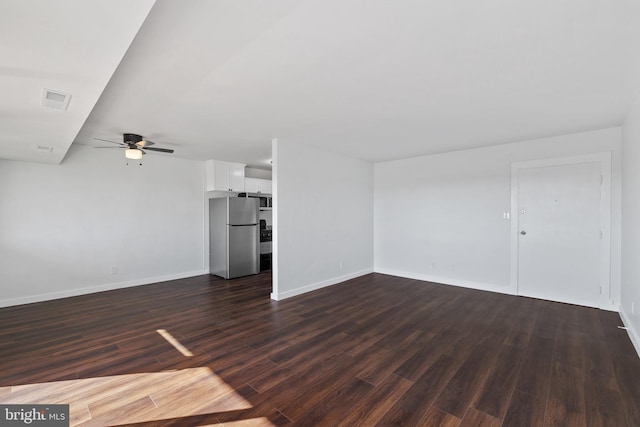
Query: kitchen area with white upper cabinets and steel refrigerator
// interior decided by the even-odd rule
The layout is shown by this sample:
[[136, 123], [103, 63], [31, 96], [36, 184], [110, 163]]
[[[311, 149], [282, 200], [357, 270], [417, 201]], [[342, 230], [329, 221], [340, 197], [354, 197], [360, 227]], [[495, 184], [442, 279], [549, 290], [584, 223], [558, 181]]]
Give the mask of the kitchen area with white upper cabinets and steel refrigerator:
[[234, 279], [271, 270], [271, 171], [209, 160], [206, 196], [210, 273]]

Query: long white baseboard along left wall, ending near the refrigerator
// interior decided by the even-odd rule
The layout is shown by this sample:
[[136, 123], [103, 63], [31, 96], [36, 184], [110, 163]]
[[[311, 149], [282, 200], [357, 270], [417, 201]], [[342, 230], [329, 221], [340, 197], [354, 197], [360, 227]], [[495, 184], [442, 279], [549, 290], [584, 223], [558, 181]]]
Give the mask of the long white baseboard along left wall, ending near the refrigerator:
[[114, 289], [130, 288], [133, 286], [148, 285], [156, 282], [166, 282], [169, 280], [185, 279], [187, 277], [208, 274], [208, 270], [188, 271], [184, 273], [169, 274], [166, 276], [147, 277], [144, 279], [127, 280], [124, 282], [106, 283], [103, 285], [89, 286], [86, 288], [68, 289], [64, 291], [49, 292], [46, 294], [28, 295], [25, 297], [0, 299], [0, 307], [11, 307], [14, 305], [31, 304], [34, 302], [50, 301], [60, 298], [75, 297], [78, 295], [92, 294], [95, 292], [111, 291]]

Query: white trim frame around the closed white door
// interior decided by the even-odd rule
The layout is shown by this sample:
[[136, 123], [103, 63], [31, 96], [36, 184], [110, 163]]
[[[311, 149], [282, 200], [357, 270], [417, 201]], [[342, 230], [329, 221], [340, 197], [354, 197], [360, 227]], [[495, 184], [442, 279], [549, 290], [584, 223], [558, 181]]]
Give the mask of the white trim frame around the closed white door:
[[[599, 152], [571, 157], [530, 160], [511, 163], [511, 289], [520, 295], [518, 286], [519, 218], [518, 215], [518, 172], [522, 169], [547, 166], [566, 166], [577, 163], [599, 163], [602, 185], [600, 186], [600, 298], [598, 308], [608, 309], [611, 298], [611, 152]], [[570, 301], [559, 301], [568, 302]]]

